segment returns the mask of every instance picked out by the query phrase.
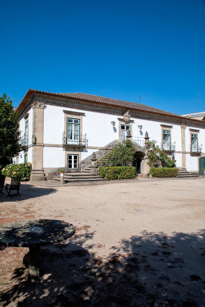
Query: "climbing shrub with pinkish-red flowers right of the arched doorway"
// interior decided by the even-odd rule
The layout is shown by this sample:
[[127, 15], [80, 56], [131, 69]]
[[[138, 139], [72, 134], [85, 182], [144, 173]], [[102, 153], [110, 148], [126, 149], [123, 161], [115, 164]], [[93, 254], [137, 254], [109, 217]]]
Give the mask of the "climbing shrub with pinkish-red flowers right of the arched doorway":
[[157, 141], [148, 141], [149, 149], [148, 149], [148, 165], [151, 167], [162, 166], [162, 167], [175, 167], [175, 162], [172, 161], [163, 150], [160, 149], [158, 145], [156, 145]]

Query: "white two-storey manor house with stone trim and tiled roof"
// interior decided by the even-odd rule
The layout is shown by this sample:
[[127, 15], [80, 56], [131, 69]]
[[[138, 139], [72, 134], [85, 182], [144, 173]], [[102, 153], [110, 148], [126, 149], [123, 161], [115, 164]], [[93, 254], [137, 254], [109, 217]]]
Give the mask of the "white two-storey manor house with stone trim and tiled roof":
[[147, 177], [149, 172], [148, 137], [156, 140], [164, 152], [176, 160], [179, 170], [203, 175], [203, 120], [142, 103], [31, 89], [15, 112], [24, 150], [13, 160], [14, 163], [32, 163], [30, 180], [50, 180], [61, 168], [68, 173], [85, 172], [92, 164], [93, 151], [99, 159], [126, 137], [136, 147], [133, 165], [139, 177]]

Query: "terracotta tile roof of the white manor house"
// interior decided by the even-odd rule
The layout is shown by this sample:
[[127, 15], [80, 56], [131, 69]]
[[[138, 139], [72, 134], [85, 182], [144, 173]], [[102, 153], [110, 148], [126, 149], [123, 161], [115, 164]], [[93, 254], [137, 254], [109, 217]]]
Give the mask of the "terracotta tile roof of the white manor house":
[[32, 98], [33, 94], [34, 95], [39, 94], [39, 95], [44, 95], [44, 96], [47, 95], [48, 97], [53, 96], [54, 99], [61, 98], [61, 97], [63, 98], [67, 97], [68, 99], [73, 99], [73, 100], [88, 101], [88, 102], [93, 102], [93, 103], [99, 103], [102, 105], [121, 107], [121, 108], [125, 108], [128, 110], [135, 110], [135, 111], [140, 111], [140, 112], [165, 115], [168, 117], [178, 118], [181, 120], [183, 119], [183, 120], [186, 120], [187, 122], [195, 122], [195, 123], [200, 122], [200, 123], [203, 123], [205, 126], [205, 122], [202, 120], [186, 118], [181, 115], [177, 115], [171, 112], [167, 112], [164, 110], [160, 110], [154, 107], [147, 106], [143, 103], [135, 103], [135, 102], [125, 101], [125, 100], [112, 99], [112, 98], [96, 96], [96, 95], [91, 95], [91, 94], [84, 94], [84, 93], [50, 93], [50, 92], [38, 91], [34, 89], [29, 89], [26, 92], [26, 95], [24, 96], [24, 98], [22, 99], [21, 103], [19, 104], [18, 108], [15, 111], [16, 113], [19, 113], [22, 111], [27, 101]]

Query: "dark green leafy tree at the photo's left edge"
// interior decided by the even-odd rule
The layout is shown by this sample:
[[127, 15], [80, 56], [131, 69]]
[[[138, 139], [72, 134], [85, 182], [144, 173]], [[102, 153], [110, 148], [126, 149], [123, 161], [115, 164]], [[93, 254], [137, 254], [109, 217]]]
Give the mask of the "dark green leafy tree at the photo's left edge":
[[4, 94], [0, 97], [0, 167], [21, 151], [20, 134], [12, 101]]

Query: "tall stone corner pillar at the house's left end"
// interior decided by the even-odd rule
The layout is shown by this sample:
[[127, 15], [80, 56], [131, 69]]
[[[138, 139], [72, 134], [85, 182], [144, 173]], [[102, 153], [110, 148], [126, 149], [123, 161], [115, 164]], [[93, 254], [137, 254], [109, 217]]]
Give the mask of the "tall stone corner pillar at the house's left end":
[[32, 171], [30, 181], [45, 181], [43, 170], [43, 110], [45, 103], [35, 100], [33, 108]]

